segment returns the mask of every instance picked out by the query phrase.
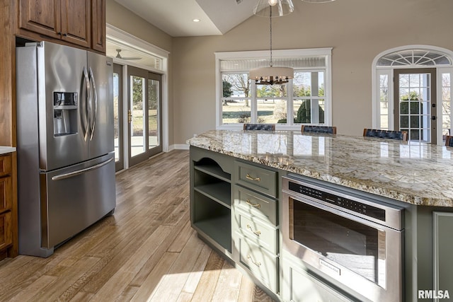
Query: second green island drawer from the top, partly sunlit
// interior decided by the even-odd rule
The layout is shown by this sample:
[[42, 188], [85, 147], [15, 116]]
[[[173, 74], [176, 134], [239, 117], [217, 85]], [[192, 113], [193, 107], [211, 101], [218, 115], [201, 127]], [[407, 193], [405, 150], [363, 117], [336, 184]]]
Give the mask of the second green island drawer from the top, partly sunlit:
[[234, 186], [234, 206], [277, 226], [277, 202], [261, 194]]

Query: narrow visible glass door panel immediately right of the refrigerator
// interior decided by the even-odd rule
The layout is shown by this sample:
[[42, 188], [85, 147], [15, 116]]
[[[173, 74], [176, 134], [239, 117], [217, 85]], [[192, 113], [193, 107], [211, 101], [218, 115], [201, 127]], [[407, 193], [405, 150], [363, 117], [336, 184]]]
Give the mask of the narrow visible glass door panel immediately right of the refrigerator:
[[124, 144], [122, 134], [122, 65], [113, 64], [113, 121], [115, 134], [115, 170], [124, 168]]

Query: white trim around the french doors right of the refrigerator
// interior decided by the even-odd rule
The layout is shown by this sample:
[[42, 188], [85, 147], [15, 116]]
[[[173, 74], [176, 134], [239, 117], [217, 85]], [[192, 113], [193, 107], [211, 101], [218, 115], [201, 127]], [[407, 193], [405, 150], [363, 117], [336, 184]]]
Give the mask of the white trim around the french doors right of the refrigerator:
[[[122, 44], [130, 45], [139, 51], [152, 54], [155, 57], [159, 57], [162, 59], [162, 66], [161, 66], [162, 69], [154, 69], [149, 66], [134, 64], [133, 62], [125, 61], [125, 60], [117, 59], [117, 58], [113, 58], [113, 62], [123, 65], [123, 73], [125, 72], [125, 74], [127, 74], [127, 65], [130, 65], [130, 66], [136, 66], [141, 69], [146, 69], [148, 71], [162, 75], [162, 110], [161, 110], [162, 151], [164, 151], [164, 152], [171, 151], [171, 149], [173, 149], [173, 147], [170, 147], [168, 145], [169, 144], [168, 129], [170, 126], [168, 124], [168, 116], [169, 116], [169, 112], [168, 112], [168, 55], [170, 54], [170, 52], [163, 50], [155, 45], [152, 45], [151, 43], [149, 43], [147, 41], [139, 39], [138, 37], [135, 37], [134, 35], [131, 35], [130, 33], [125, 32], [124, 30], [120, 30], [120, 28], [116, 28], [115, 26], [110, 25], [110, 24], [105, 25], [105, 36], [106, 36], [106, 39], [114, 40], [117, 42], [121, 42]], [[125, 77], [124, 75], [123, 75], [123, 78], [127, 79], [127, 77]], [[123, 83], [123, 86], [125, 86], [125, 87], [123, 87], [123, 91], [127, 92], [127, 81], [125, 81], [125, 83]], [[127, 102], [127, 98], [123, 98], [123, 100], [125, 102]], [[126, 110], [127, 110], [126, 103], [123, 104], [123, 108], [126, 108]], [[125, 115], [125, 116], [127, 116], [127, 115]], [[123, 127], [126, 129], [126, 132], [124, 132], [124, 133], [127, 133], [127, 119], [124, 119], [124, 120], [125, 120], [125, 125], [123, 125]], [[127, 162], [127, 148], [128, 148], [127, 147], [127, 144], [128, 144], [127, 136], [124, 135], [124, 137], [125, 137], [124, 138], [125, 139], [124, 148], [126, 151], [125, 155], [124, 155], [125, 156], [124, 164], [125, 164], [125, 168], [129, 168], [129, 163]]]

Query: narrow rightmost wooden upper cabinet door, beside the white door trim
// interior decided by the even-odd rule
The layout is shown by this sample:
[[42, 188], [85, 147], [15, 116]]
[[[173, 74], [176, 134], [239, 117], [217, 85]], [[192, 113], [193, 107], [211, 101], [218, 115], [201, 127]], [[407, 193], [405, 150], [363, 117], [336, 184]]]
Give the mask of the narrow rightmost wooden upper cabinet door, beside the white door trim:
[[93, 0], [91, 26], [91, 48], [105, 53], [105, 0]]

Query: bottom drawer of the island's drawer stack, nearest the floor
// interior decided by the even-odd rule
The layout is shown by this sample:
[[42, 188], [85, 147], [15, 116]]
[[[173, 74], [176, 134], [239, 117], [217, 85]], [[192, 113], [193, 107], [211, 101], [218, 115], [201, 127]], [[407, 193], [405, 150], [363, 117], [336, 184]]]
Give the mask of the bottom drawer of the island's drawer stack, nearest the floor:
[[239, 261], [251, 274], [274, 293], [278, 292], [277, 256], [261, 249], [246, 238], [239, 238]]

